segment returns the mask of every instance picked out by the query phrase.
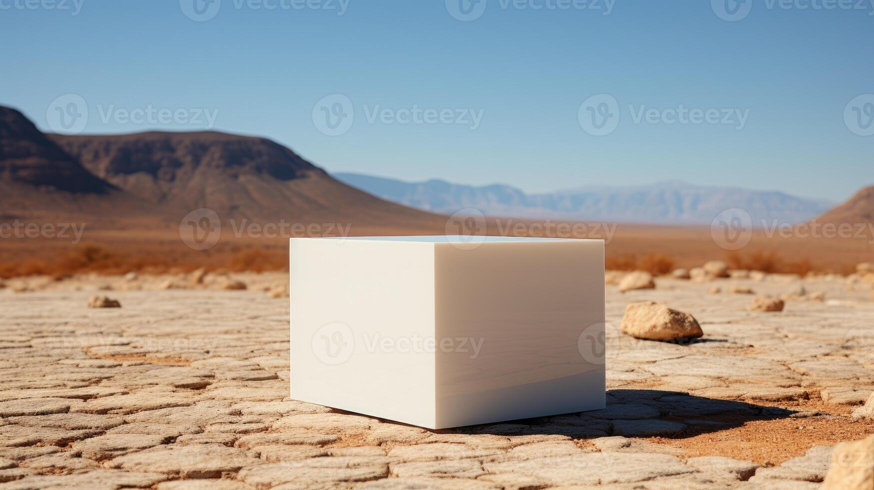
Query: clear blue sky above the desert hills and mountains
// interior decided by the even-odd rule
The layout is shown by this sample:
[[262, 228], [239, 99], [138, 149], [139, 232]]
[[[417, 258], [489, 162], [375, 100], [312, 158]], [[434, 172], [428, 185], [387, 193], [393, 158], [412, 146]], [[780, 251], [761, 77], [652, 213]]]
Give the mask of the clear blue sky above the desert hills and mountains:
[[[450, 15], [459, 0], [310, 0], [334, 10], [221, 0], [214, 18], [196, 22], [179, 0], [75, 0], [78, 15], [74, 0], [53, 0], [71, 10], [22, 8], [27, 1], [46, 5], [0, 0], [0, 103], [44, 130], [52, 102], [76, 94], [87, 102], [86, 133], [205, 125], [123, 122], [119, 109], [218, 110], [215, 129], [272, 138], [329, 172], [530, 192], [684, 179], [832, 200], [874, 184], [874, 136], [844, 121], [850, 100], [874, 94], [871, 4], [825, 11], [755, 0], [728, 22], [704, 0], [616, 0], [609, 15], [605, 0], [586, 9], [487, 0], [481, 17], [461, 22]], [[332, 94], [354, 110], [340, 136], [314, 123], [316, 103]], [[578, 119], [598, 94], [619, 108], [606, 136]], [[643, 106], [681, 104], [749, 112], [742, 130], [661, 116], [635, 123]], [[414, 105], [474, 109], [482, 121], [475, 130], [368, 121], [376, 106], [403, 119], [397, 110]], [[101, 113], [113, 116], [104, 123]]]

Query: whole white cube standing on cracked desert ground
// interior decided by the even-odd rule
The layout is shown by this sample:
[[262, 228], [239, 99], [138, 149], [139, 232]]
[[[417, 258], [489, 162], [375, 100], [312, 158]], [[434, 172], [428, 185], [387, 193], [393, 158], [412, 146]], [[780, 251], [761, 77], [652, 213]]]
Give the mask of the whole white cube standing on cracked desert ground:
[[290, 241], [291, 397], [430, 429], [603, 409], [604, 242]]

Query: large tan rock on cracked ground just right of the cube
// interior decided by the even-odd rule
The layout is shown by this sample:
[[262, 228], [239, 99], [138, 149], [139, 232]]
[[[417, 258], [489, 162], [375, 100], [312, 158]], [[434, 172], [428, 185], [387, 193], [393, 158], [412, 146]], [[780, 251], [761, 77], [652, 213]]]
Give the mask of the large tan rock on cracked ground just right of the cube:
[[637, 339], [692, 339], [704, 335], [689, 313], [655, 301], [628, 304], [620, 330]]

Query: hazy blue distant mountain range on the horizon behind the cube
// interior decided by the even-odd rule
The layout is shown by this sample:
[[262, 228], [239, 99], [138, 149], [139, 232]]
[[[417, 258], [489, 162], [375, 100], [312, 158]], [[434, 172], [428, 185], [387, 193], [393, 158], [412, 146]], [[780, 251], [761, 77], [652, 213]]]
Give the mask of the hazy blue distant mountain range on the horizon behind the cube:
[[475, 208], [490, 216], [702, 225], [710, 224], [726, 209], [737, 207], [746, 210], [753, 223], [760, 224], [762, 220], [808, 221], [834, 205], [779, 192], [695, 186], [676, 180], [650, 186], [589, 186], [528, 194], [503, 185], [464, 186], [438, 179], [404, 182], [348, 172], [333, 175], [382, 199], [443, 214]]

